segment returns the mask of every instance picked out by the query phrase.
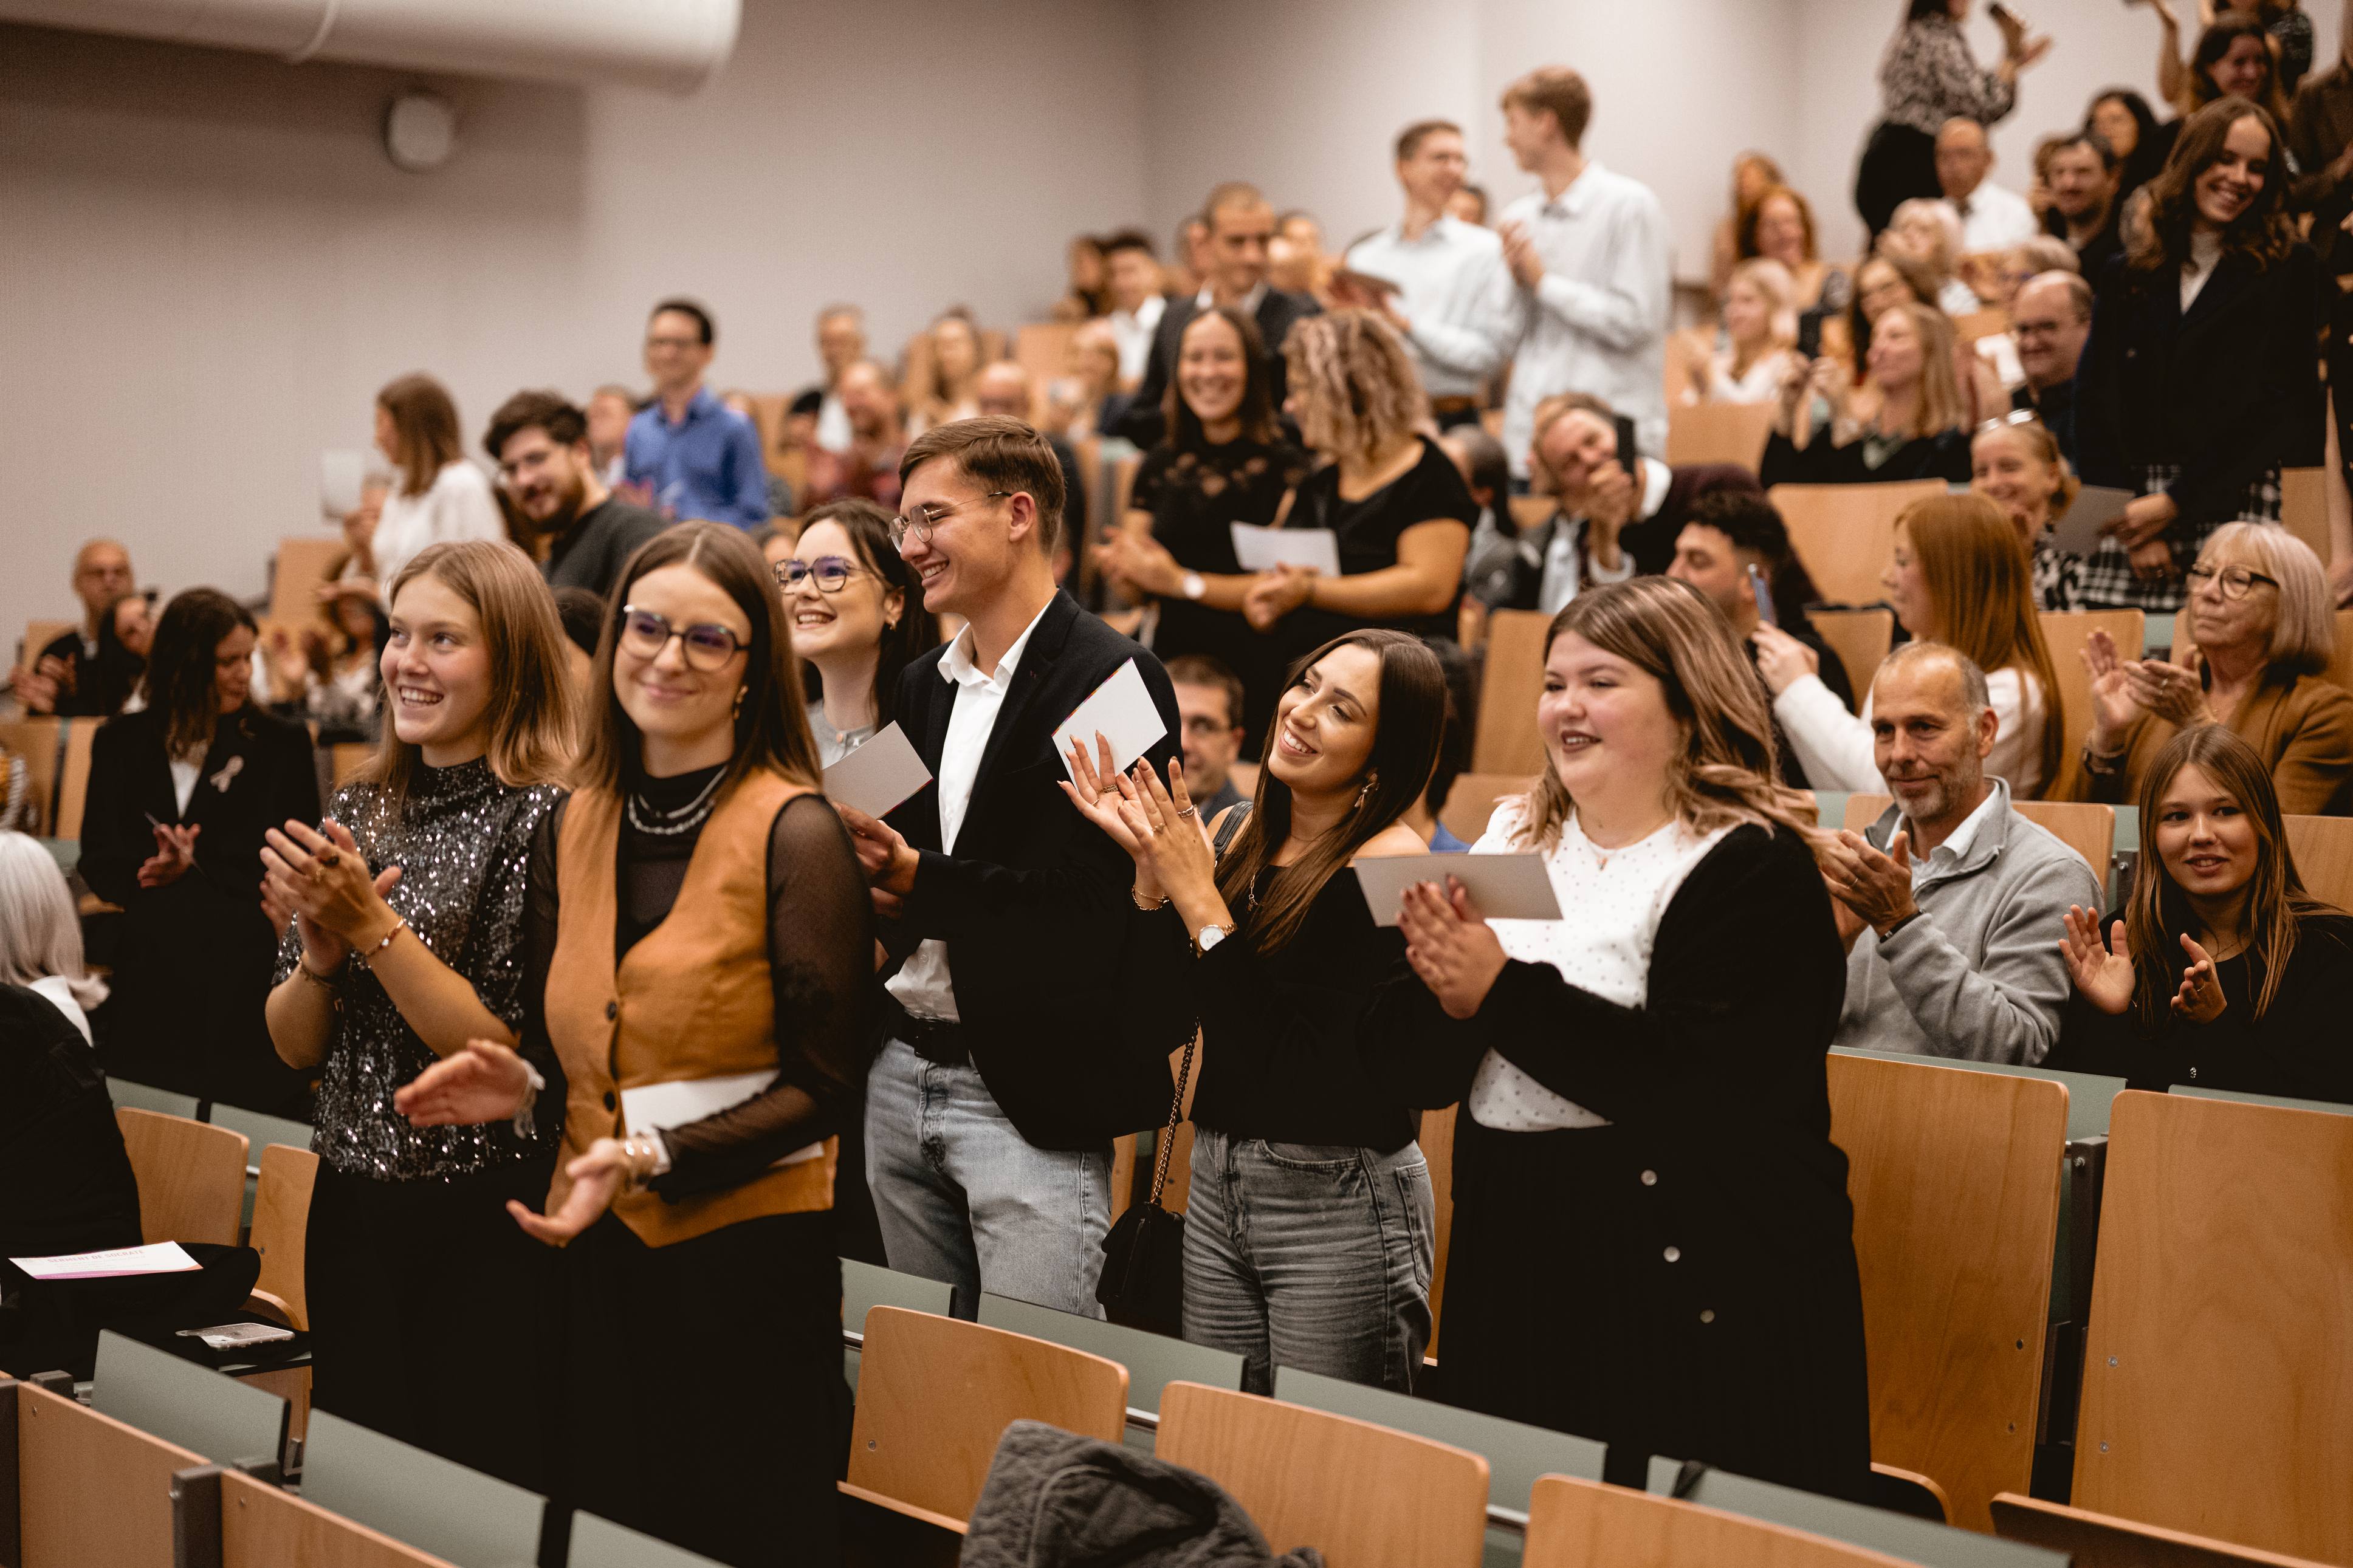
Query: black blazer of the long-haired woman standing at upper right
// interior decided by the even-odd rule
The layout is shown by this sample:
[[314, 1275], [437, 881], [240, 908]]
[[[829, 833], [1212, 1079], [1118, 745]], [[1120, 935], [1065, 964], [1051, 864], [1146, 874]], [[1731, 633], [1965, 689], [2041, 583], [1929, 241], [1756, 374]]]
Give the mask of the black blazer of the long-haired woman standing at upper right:
[[2111, 261], [2075, 369], [2085, 484], [2137, 491], [2139, 468], [2174, 463], [2181, 522], [2209, 524], [2235, 517], [2266, 468], [2320, 463], [2318, 289], [2306, 244], [2261, 273], [2226, 254], [2184, 315], [2172, 268]]

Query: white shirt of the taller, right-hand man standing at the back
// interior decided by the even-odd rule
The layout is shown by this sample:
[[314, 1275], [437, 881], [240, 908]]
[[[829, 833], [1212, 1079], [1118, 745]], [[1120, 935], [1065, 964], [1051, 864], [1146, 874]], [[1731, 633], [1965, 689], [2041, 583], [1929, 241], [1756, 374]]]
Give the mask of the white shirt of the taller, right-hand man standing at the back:
[[1647, 451], [1666, 451], [1666, 310], [1671, 242], [1649, 186], [1586, 162], [1558, 197], [1522, 195], [1504, 221], [1525, 223], [1544, 277], [1513, 289], [1518, 353], [1504, 404], [1504, 451], [1527, 477], [1537, 404], [1591, 393], [1635, 421]]

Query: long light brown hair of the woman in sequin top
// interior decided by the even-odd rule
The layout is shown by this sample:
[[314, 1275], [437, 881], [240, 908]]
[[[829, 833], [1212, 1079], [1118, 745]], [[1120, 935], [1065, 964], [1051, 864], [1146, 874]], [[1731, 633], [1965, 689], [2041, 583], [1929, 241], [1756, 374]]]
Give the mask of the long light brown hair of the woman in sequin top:
[[[393, 578], [388, 604], [400, 590], [431, 576], [482, 621], [482, 651], [489, 656], [489, 705], [482, 726], [489, 731], [489, 771], [504, 785], [562, 783], [572, 766], [574, 696], [572, 665], [565, 658], [565, 623], [555, 614], [539, 567], [515, 545], [487, 538], [426, 545]], [[424, 764], [421, 748], [409, 745], [384, 715], [376, 755], [358, 778], [381, 785], [391, 799], [405, 799]]]

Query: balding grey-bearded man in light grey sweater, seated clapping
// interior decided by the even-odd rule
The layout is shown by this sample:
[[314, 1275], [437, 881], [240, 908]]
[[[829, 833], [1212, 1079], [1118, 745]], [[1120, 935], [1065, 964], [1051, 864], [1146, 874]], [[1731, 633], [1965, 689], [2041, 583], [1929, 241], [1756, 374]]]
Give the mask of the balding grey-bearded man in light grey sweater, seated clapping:
[[1821, 849], [1847, 943], [1840, 1046], [2033, 1067], [2059, 1037], [2068, 905], [2106, 907], [2073, 849], [1986, 776], [1986, 672], [1958, 649], [1906, 642], [1871, 684], [1880, 778], [1897, 797]]

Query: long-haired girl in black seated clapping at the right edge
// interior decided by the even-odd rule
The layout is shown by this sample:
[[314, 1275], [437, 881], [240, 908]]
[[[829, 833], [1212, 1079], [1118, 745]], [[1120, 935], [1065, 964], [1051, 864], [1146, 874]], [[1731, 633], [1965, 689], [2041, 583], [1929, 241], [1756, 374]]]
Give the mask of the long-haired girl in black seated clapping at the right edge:
[[2047, 1065], [2353, 1100], [2353, 914], [2304, 891], [2264, 757], [2221, 724], [2181, 731], [2141, 780], [2141, 837], [2108, 940], [2066, 914], [2075, 999]]

